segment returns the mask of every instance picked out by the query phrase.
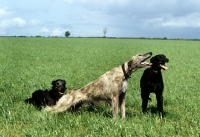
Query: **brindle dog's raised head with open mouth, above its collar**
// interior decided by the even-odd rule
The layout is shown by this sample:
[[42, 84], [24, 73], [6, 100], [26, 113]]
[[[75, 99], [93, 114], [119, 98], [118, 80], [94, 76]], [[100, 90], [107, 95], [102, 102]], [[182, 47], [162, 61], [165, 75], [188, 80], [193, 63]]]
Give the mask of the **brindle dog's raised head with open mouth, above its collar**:
[[132, 59], [128, 62], [128, 67], [132, 69], [132, 71], [137, 70], [138, 68], [142, 68], [145, 66], [149, 66], [148, 62], [145, 62], [148, 58], [150, 58], [152, 52], [146, 54], [137, 54], [132, 57]]

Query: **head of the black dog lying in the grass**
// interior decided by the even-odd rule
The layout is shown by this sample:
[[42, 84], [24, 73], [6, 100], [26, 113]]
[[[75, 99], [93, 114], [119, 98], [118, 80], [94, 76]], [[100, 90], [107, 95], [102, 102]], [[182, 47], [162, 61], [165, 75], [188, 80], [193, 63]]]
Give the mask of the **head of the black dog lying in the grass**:
[[66, 81], [62, 79], [57, 79], [51, 82], [52, 90], [56, 91], [59, 95], [63, 95], [66, 88]]

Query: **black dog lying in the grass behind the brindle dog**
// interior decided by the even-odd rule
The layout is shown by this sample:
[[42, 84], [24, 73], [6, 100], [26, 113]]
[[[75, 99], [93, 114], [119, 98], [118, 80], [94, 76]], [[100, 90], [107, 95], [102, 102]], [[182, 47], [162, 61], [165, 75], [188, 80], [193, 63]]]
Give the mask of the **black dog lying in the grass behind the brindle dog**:
[[42, 106], [53, 106], [62, 97], [66, 90], [65, 80], [57, 79], [52, 81], [51, 90], [36, 90], [32, 93], [32, 97], [25, 100], [26, 103], [34, 105], [41, 110]]

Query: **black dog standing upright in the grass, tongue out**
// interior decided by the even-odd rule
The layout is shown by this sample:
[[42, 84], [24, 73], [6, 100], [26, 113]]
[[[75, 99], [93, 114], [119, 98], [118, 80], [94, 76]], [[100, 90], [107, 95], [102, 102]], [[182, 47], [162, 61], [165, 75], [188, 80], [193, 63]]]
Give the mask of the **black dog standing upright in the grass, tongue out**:
[[167, 70], [165, 66], [166, 62], [169, 62], [169, 59], [165, 55], [159, 54], [150, 59], [150, 68], [147, 68], [141, 79], [140, 79], [140, 88], [141, 88], [141, 98], [142, 98], [142, 111], [145, 113], [147, 111], [147, 104], [150, 93], [156, 94], [157, 99], [157, 109], [159, 115], [164, 116], [163, 113], [163, 89], [164, 83], [162, 79], [161, 69]]

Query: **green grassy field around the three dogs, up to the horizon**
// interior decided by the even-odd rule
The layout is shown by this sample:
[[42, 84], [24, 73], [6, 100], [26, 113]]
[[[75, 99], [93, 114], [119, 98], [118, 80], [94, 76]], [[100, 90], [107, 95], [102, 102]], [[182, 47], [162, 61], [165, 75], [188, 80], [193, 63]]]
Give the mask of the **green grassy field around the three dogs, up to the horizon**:
[[[128, 80], [126, 119], [112, 118], [111, 107], [77, 112], [38, 111], [24, 100], [51, 81], [65, 79], [67, 91], [81, 88], [137, 53], [169, 58], [162, 71], [165, 117], [141, 112], [140, 77]], [[200, 42], [109, 38], [0, 38], [0, 137], [199, 137]], [[148, 60], [149, 61], [149, 60]], [[67, 92], [66, 91], [66, 92]]]

